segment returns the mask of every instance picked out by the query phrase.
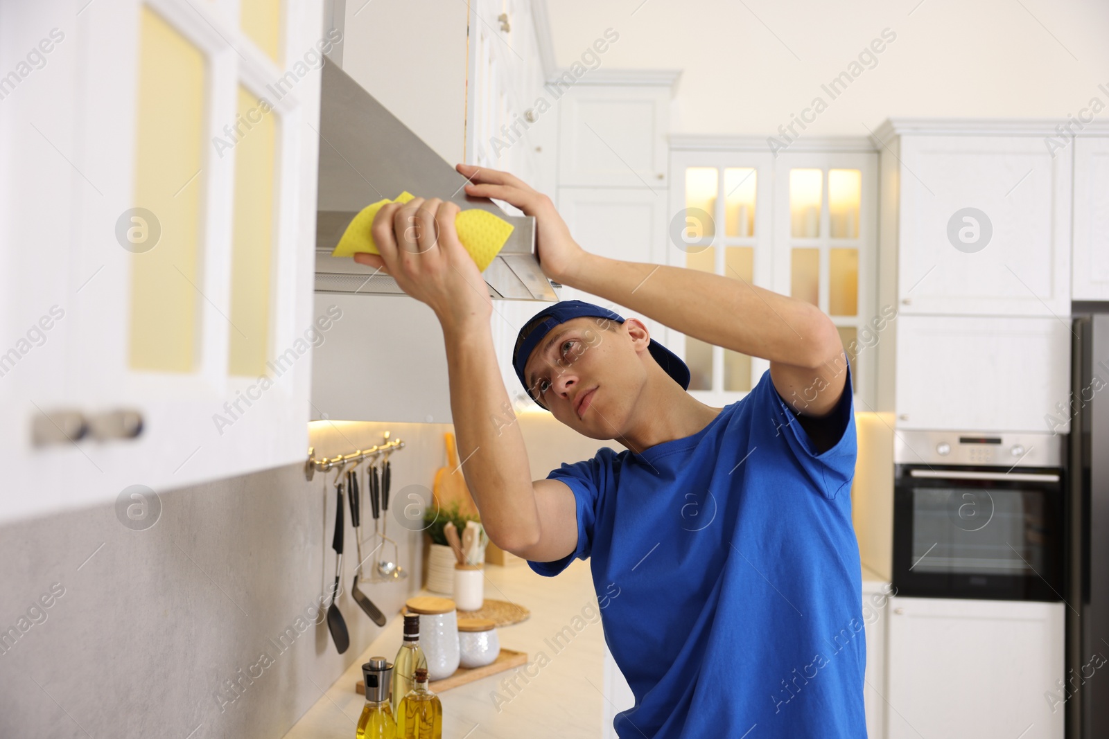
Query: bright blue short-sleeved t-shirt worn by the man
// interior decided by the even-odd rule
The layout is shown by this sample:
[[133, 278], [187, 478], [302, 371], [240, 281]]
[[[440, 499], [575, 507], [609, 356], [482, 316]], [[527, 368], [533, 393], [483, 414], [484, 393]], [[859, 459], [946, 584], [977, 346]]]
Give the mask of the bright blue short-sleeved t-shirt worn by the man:
[[547, 475], [577, 499], [578, 548], [528, 564], [552, 577], [591, 558], [635, 696], [621, 739], [866, 737], [849, 368], [833, 415], [821, 453], [767, 370], [691, 437]]

